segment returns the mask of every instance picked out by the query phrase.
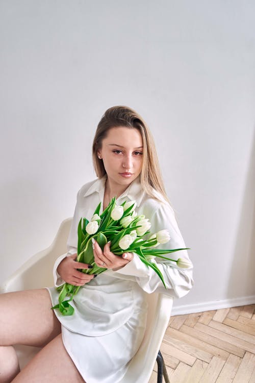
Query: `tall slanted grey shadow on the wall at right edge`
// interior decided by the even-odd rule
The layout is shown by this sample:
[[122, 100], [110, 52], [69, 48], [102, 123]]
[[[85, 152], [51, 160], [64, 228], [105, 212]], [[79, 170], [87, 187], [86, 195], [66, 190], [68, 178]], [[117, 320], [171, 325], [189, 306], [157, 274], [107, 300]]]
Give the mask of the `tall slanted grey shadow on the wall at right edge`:
[[[255, 132], [254, 132], [255, 133]], [[237, 153], [238, 155], [238, 153]], [[255, 303], [255, 134], [246, 177], [226, 296], [254, 297]]]

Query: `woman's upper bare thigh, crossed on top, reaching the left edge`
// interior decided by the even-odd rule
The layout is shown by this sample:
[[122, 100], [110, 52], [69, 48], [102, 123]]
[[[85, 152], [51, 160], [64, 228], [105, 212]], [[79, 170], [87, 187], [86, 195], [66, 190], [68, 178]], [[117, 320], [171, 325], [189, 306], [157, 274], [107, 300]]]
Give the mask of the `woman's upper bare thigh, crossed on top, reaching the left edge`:
[[42, 347], [61, 332], [47, 289], [0, 295], [0, 345]]

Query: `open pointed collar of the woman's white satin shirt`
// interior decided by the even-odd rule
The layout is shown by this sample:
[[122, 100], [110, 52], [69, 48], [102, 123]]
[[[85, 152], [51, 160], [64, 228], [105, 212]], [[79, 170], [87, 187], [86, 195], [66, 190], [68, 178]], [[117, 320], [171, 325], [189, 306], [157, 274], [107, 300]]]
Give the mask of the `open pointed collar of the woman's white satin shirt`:
[[[84, 194], [84, 197], [87, 197], [93, 193], [98, 193], [100, 196], [104, 196], [105, 183], [107, 175], [104, 175], [102, 178], [98, 178]], [[126, 188], [126, 190], [117, 198], [117, 201], [124, 198], [129, 198], [130, 201], [136, 201], [137, 206], [140, 205], [144, 192], [141, 188], [140, 177], [137, 177], [131, 184]], [[122, 201], [123, 202], [123, 201]], [[121, 202], [121, 203], [122, 203]]]

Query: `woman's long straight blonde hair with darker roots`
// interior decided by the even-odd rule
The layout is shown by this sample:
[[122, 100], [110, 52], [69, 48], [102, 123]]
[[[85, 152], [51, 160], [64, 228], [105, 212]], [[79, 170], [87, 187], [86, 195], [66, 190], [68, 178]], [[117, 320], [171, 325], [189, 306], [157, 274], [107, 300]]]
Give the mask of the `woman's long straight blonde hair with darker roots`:
[[161, 175], [154, 139], [142, 117], [135, 110], [127, 106], [113, 106], [107, 109], [99, 121], [92, 147], [93, 164], [97, 177], [102, 178], [106, 174], [104, 163], [97, 156], [98, 150], [101, 149], [102, 140], [107, 136], [111, 128], [119, 126], [137, 129], [141, 133], [143, 139], [143, 162], [140, 175], [142, 189], [150, 197], [160, 200], [157, 194], [155, 194], [156, 190], [169, 202]]

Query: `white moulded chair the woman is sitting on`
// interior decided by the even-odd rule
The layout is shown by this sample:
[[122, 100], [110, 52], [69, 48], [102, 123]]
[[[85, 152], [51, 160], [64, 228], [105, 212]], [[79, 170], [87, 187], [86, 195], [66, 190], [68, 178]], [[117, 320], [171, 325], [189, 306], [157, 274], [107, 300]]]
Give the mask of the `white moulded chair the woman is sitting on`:
[[[5, 283], [0, 285], [0, 293], [52, 286], [53, 265], [55, 259], [66, 252], [70, 225], [71, 218], [63, 221], [52, 245], [34, 255], [8, 278]], [[172, 298], [167, 295], [154, 293], [148, 294], [147, 299], [148, 314], [144, 339], [138, 352], [130, 362], [121, 383], [147, 383], [156, 359], [158, 362], [158, 383], [162, 382], [163, 374], [166, 383], [169, 382], [159, 348], [169, 322]], [[30, 346], [17, 345], [15, 348], [19, 357], [20, 368], [23, 368], [39, 351], [39, 348]]]

